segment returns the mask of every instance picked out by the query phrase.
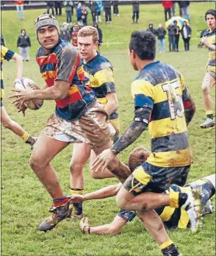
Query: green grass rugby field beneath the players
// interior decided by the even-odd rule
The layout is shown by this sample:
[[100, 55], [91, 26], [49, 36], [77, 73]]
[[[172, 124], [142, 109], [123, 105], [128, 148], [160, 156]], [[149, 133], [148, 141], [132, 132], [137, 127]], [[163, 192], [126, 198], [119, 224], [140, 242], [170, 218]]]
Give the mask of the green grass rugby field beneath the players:
[[[200, 123], [204, 121], [204, 103], [200, 85], [204, 77], [207, 62], [207, 50], [198, 49], [197, 31], [205, 28], [204, 12], [214, 9], [214, 2], [192, 3], [190, 5], [191, 26], [193, 37], [191, 51], [183, 51], [181, 41], [179, 53], [158, 54], [157, 59], [165, 61], [182, 72], [186, 85], [197, 104], [197, 112], [189, 126], [190, 144], [193, 149], [194, 163], [191, 167], [188, 181], [214, 173], [215, 154], [214, 129], [201, 130]], [[24, 62], [23, 76], [44, 85], [40, 78], [39, 68], [34, 60], [37, 51], [37, 38], [33, 31], [33, 20], [44, 10], [26, 11], [26, 19], [16, 19], [15, 11], [2, 12], [2, 34], [6, 46], [16, 51], [16, 40], [19, 31], [26, 29], [32, 40], [30, 62]], [[64, 15], [64, 12], [63, 12]], [[148, 22], [156, 24], [163, 21], [162, 5], [141, 5], [140, 23], [131, 24], [131, 6], [120, 6], [120, 16], [113, 17], [113, 23], [102, 24], [104, 42], [127, 43], [132, 30], [145, 29]], [[60, 17], [63, 23], [65, 16]], [[104, 18], [103, 18], [104, 19]], [[89, 22], [89, 24], [91, 24]], [[181, 40], [181, 39], [180, 39]], [[113, 63], [116, 72], [116, 85], [120, 103], [121, 132], [133, 118], [134, 104], [131, 98], [131, 82], [137, 72], [131, 68], [127, 57], [127, 44], [103, 46], [102, 53]], [[16, 64], [13, 61], [4, 62], [4, 105], [13, 120], [16, 120], [32, 135], [38, 135], [47, 118], [54, 110], [54, 103], [47, 101], [40, 110], [28, 110], [26, 117], [16, 112], [8, 96], [12, 94], [12, 81], [15, 79]], [[215, 93], [212, 89], [213, 104]], [[127, 161], [128, 153], [135, 146], [150, 146], [148, 132], [144, 132], [133, 146], [125, 149], [120, 158]], [[59, 175], [65, 194], [69, 194], [69, 161], [72, 146], [64, 149], [52, 162]], [[78, 220], [60, 223], [51, 232], [41, 233], [37, 230], [39, 223], [48, 216], [51, 198], [37, 180], [28, 165], [30, 149], [9, 130], [2, 129], [2, 255], [76, 255], [76, 256], [153, 256], [162, 255], [147, 231], [143, 229], [138, 219], [124, 227], [118, 236], [87, 236], [78, 229]], [[114, 184], [115, 179], [93, 180], [89, 176], [88, 166], [85, 167], [85, 192], [94, 191], [108, 184]], [[118, 209], [115, 198], [84, 203], [85, 216], [89, 216], [92, 225], [108, 223], [113, 219]], [[179, 247], [183, 255], [214, 256], [215, 255], [215, 223], [214, 215], [204, 219], [204, 225], [199, 233], [192, 235], [190, 230], [168, 231], [169, 236]]]

